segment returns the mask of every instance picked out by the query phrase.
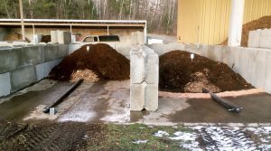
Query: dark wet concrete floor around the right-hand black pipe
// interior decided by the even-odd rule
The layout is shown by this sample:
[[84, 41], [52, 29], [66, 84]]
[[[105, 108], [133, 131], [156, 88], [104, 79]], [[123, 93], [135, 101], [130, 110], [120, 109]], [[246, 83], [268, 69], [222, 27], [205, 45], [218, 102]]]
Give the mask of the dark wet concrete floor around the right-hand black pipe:
[[244, 109], [240, 113], [232, 113], [211, 99], [189, 99], [189, 108], [173, 113], [169, 118], [174, 123], [271, 123], [270, 94], [225, 99]]

